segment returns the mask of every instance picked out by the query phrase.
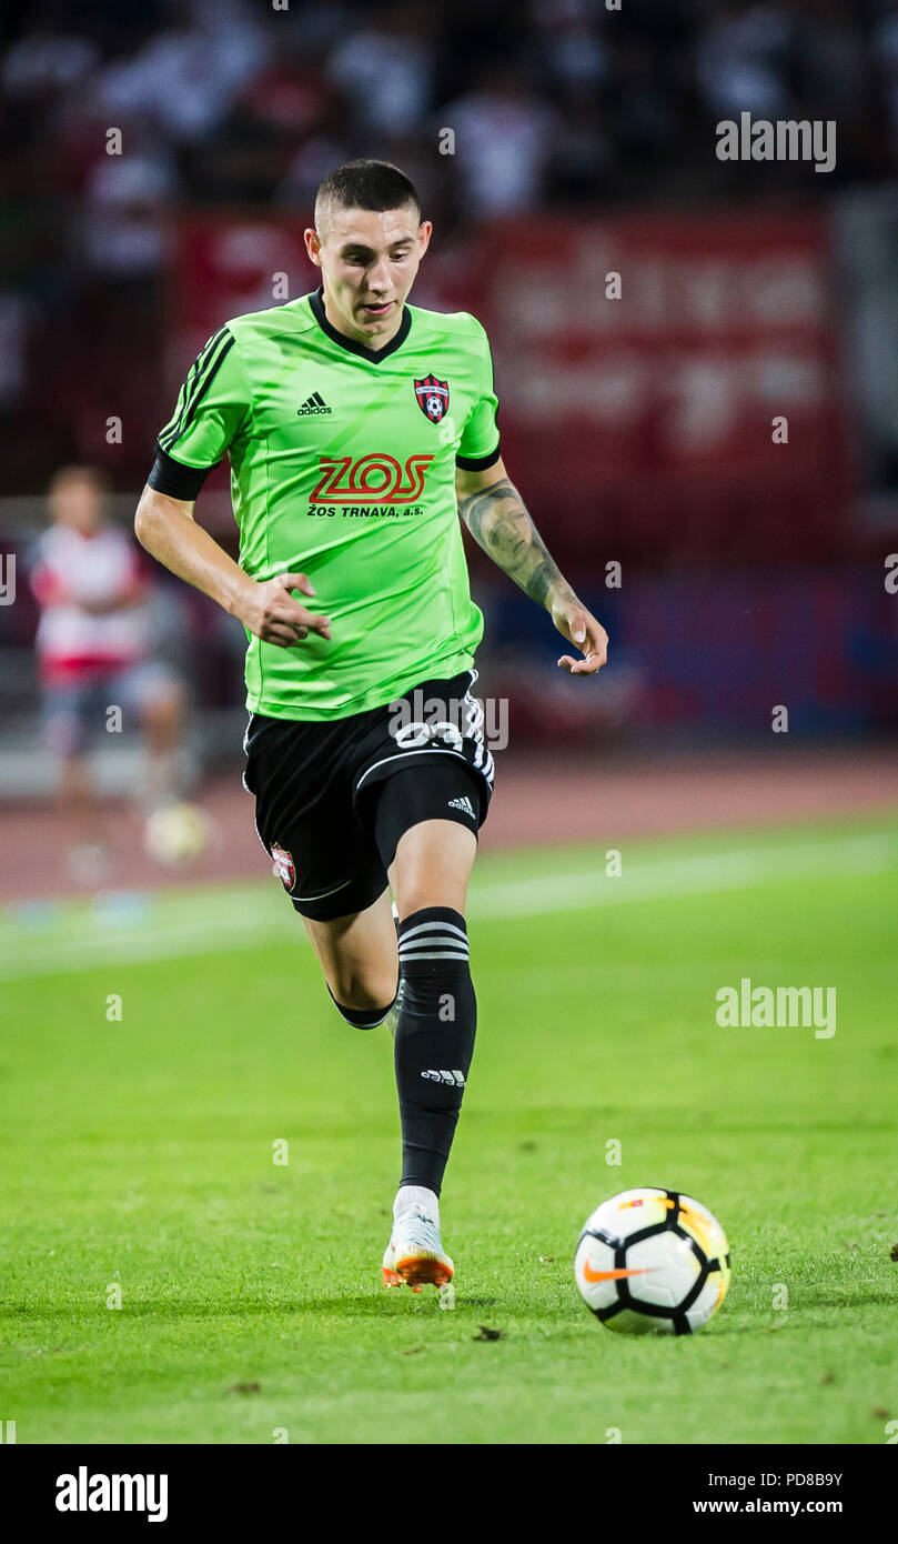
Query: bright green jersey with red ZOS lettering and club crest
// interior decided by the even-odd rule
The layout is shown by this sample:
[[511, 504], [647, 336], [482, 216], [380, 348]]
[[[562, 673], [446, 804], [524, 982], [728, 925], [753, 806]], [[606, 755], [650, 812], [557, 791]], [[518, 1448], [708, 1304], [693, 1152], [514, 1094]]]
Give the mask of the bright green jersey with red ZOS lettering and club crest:
[[321, 290], [236, 317], [190, 369], [151, 485], [185, 497], [177, 476], [225, 451], [241, 567], [309, 574], [316, 594], [298, 599], [332, 622], [330, 641], [310, 633], [293, 648], [247, 630], [247, 707], [344, 718], [472, 664], [483, 616], [455, 468], [498, 459], [492, 358], [474, 317], [406, 306], [380, 350], [329, 323]]

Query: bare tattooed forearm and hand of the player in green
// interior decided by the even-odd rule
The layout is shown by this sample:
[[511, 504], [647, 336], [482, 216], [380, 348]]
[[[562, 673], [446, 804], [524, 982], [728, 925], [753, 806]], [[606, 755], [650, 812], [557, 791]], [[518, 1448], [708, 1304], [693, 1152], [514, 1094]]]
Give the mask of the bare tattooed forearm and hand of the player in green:
[[608, 659], [608, 633], [577, 599], [531, 520], [501, 457], [484, 471], [455, 472], [458, 513], [494, 564], [552, 618], [582, 659], [562, 655], [571, 675], [594, 675]]

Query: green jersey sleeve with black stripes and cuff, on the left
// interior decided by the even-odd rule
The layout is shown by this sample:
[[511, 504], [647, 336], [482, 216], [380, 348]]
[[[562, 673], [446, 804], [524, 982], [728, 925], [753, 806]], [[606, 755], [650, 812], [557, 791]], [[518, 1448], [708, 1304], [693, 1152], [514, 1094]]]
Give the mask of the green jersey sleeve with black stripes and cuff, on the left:
[[150, 486], [173, 499], [196, 499], [250, 412], [241, 352], [230, 327], [222, 327], [197, 354], [174, 412], [159, 431]]

